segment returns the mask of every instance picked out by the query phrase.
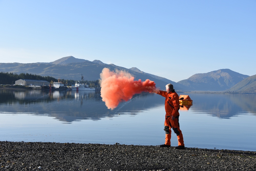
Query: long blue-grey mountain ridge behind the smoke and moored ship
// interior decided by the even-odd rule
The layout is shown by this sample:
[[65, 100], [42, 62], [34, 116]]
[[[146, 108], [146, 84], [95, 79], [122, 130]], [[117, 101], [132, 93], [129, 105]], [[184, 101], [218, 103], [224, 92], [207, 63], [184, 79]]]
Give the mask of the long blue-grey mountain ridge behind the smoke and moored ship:
[[[58, 63], [58, 65], [54, 63]], [[173, 83], [175, 90], [188, 90], [186, 86], [182, 84], [177, 84], [176, 82], [172, 82], [168, 79], [162, 79], [152, 74], [136, 72], [124, 67], [116, 66], [114, 64], [104, 64], [99, 60], [94, 62], [88, 60], [78, 60], [72, 56], [63, 57], [59, 60], [49, 63], [0, 63], [1, 72], [31, 73], [41, 76], [51, 76], [56, 79], [65, 78], [76, 81], [81, 79], [82, 74], [84, 80], [91, 80], [94, 82], [97, 82], [100, 79], [100, 73], [102, 72], [103, 68], [109, 68], [111, 71], [122, 70], [129, 72], [132, 74], [135, 80], [152, 80], [156, 83], [158, 88], [163, 90], [165, 90], [165, 85], [168, 83]], [[70, 83], [66, 84], [71, 85]], [[74, 84], [74, 82], [72, 84]], [[96, 84], [95, 87], [97, 87]]]

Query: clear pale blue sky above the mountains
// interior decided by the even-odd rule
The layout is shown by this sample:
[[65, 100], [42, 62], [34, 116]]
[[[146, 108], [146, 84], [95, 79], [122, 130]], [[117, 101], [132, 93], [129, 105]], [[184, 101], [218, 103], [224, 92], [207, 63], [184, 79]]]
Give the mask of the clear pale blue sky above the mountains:
[[226, 68], [252, 76], [255, 9], [255, 0], [0, 0], [0, 63], [73, 56], [175, 82]]

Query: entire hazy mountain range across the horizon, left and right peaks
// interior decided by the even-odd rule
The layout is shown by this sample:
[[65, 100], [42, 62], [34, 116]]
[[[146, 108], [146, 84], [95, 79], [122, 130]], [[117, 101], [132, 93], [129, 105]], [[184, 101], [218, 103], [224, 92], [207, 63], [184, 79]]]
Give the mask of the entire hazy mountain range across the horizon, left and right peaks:
[[165, 90], [165, 85], [171, 83], [175, 90], [180, 91], [218, 91], [226, 93], [256, 94], [256, 75], [248, 76], [230, 69], [219, 69], [208, 73], [197, 73], [188, 79], [174, 82], [166, 78], [145, 73], [138, 68], [124, 68], [114, 64], [106, 64], [100, 60], [89, 61], [63, 57], [53, 62], [37, 63], [0, 63], [0, 72], [31, 73], [40, 76], [51, 76], [61, 79], [80, 80], [81, 74], [84, 80], [98, 80], [103, 68], [110, 70], [124, 70], [131, 73], [135, 80], [145, 81], [150, 79], [156, 86]]

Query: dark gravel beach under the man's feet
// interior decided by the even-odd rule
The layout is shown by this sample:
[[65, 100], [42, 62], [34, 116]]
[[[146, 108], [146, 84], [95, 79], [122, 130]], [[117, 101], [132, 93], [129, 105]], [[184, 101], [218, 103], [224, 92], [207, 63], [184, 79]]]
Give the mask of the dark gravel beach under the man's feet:
[[0, 170], [256, 170], [255, 158], [224, 149], [0, 142]]

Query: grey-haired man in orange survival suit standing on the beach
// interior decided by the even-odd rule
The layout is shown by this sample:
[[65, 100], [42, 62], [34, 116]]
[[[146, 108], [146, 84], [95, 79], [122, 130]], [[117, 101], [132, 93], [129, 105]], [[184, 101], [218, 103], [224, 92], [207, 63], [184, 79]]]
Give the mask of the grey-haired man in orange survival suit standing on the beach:
[[158, 90], [155, 93], [165, 97], [165, 144], [160, 145], [160, 147], [170, 147], [171, 146], [171, 128], [173, 128], [174, 133], [178, 138], [178, 146], [175, 149], [185, 149], [183, 135], [179, 129], [179, 96], [173, 89], [172, 84], [167, 84], [166, 91]]

